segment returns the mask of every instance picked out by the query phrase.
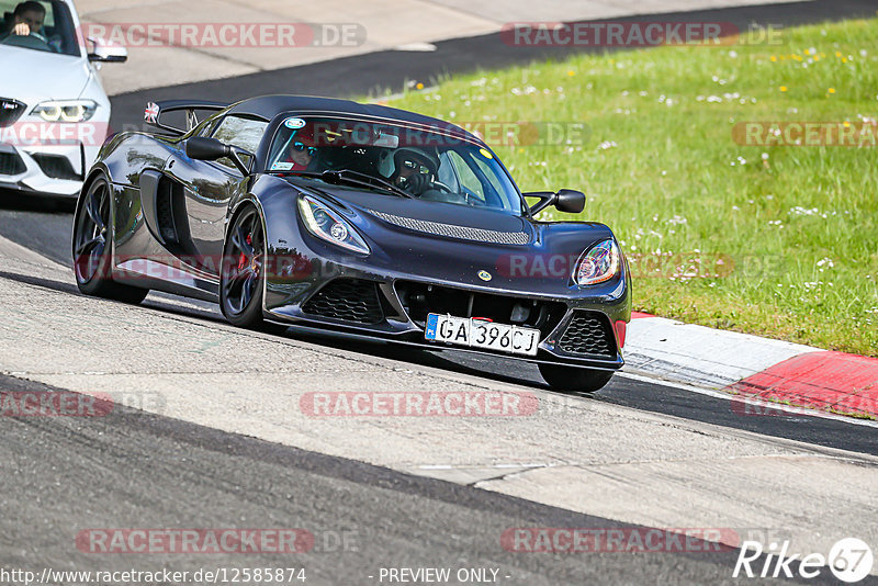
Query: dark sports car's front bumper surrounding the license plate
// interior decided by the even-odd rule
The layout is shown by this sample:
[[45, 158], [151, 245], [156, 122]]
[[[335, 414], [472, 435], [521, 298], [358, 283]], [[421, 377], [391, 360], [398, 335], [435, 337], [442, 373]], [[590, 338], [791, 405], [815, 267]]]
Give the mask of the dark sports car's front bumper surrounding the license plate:
[[[337, 263], [313, 271], [313, 264], [301, 256], [288, 260], [278, 261], [266, 282], [266, 318], [271, 322], [528, 362], [603, 370], [618, 370], [624, 363], [624, 326], [619, 323], [627, 323], [631, 313], [627, 274], [615, 286], [608, 285], [594, 295], [564, 297], [408, 274], [379, 275]], [[496, 323], [538, 328], [539, 351], [531, 357], [427, 340], [424, 322], [428, 313], [487, 317]]]

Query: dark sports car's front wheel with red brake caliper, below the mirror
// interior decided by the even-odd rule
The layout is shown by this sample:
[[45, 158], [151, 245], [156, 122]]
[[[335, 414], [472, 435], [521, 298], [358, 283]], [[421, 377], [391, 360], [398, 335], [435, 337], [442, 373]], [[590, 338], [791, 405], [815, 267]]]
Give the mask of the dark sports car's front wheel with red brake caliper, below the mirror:
[[256, 206], [246, 204], [232, 222], [223, 246], [219, 272], [219, 309], [235, 326], [281, 334], [285, 326], [262, 317], [266, 237]]

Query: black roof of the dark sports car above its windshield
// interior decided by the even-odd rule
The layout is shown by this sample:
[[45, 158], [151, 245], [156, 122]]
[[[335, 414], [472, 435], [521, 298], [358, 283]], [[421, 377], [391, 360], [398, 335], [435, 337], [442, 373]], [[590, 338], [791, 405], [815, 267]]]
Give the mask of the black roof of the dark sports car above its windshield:
[[361, 104], [351, 100], [340, 100], [338, 98], [320, 98], [316, 95], [260, 95], [249, 98], [233, 104], [229, 114], [249, 114], [266, 120], [271, 120], [284, 112], [322, 112], [339, 114], [360, 114], [378, 119], [385, 119], [396, 122], [410, 124], [423, 124], [434, 126], [446, 132], [460, 133], [471, 140], [482, 143], [476, 136], [464, 131], [460, 126], [443, 120], [416, 114], [406, 110], [390, 108], [379, 104]]

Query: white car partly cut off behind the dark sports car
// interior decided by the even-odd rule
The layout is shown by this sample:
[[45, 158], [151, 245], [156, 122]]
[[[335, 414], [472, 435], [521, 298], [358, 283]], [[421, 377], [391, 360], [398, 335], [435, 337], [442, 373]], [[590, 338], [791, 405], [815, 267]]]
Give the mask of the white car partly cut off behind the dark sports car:
[[127, 53], [86, 38], [70, 0], [0, 0], [0, 190], [76, 196], [110, 128], [95, 63]]

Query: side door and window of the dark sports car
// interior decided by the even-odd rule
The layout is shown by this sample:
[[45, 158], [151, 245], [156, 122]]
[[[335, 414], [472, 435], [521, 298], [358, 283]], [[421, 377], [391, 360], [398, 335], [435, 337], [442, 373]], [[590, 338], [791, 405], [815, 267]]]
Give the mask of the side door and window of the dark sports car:
[[[205, 126], [203, 135], [256, 153], [267, 125], [261, 119], [229, 114]], [[165, 172], [183, 188], [188, 239], [195, 261], [218, 274], [228, 203], [246, 189], [248, 178], [227, 157], [194, 160], [184, 150], [168, 159]]]

